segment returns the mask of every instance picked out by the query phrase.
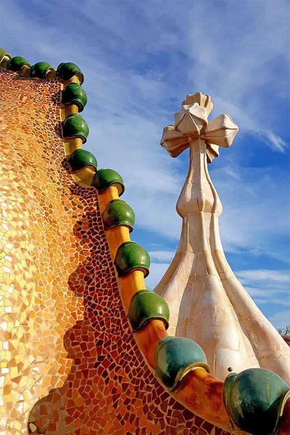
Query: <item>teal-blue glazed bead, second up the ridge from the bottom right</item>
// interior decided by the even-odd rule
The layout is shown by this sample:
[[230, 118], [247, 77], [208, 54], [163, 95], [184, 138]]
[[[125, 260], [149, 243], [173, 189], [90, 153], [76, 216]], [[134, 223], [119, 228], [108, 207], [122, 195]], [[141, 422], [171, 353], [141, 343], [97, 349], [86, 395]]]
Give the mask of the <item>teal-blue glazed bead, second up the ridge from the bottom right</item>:
[[161, 338], [154, 357], [155, 374], [169, 391], [174, 390], [184, 376], [196, 367], [210, 372], [202, 348], [189, 338]]

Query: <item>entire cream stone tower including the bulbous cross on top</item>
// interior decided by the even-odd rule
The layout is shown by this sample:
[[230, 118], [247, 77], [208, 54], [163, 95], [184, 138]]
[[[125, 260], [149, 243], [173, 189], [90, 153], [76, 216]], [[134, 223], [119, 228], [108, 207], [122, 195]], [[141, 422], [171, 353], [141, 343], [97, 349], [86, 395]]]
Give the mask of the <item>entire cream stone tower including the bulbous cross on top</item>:
[[222, 204], [207, 163], [229, 147], [238, 131], [228, 114], [207, 120], [213, 104], [200, 92], [188, 95], [164, 129], [161, 145], [172, 157], [190, 150], [188, 174], [176, 204], [180, 242], [155, 292], [170, 307], [169, 334], [196, 341], [212, 374], [262, 367], [290, 383], [290, 348], [234, 276], [219, 234]]

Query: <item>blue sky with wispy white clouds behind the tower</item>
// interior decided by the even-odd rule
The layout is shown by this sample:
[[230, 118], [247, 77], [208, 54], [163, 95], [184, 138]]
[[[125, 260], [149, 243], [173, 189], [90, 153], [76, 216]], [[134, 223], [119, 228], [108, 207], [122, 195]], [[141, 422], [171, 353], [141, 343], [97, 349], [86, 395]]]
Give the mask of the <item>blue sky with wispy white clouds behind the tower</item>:
[[36, 1], [0, 5], [0, 46], [85, 74], [86, 149], [124, 178], [132, 239], [151, 255], [153, 288], [177, 246], [175, 203], [188, 153], [159, 143], [186, 94], [239, 125], [210, 165], [232, 269], [276, 327], [290, 325], [290, 2]]

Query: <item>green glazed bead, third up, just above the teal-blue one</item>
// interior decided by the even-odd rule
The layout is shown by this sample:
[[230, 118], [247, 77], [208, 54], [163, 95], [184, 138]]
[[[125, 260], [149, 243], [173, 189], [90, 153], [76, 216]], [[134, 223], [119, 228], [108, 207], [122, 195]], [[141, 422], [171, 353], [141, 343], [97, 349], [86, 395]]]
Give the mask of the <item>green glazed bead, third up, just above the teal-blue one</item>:
[[141, 331], [152, 319], [162, 320], [169, 326], [169, 308], [163, 297], [150, 290], [139, 290], [131, 299], [128, 319], [133, 332]]

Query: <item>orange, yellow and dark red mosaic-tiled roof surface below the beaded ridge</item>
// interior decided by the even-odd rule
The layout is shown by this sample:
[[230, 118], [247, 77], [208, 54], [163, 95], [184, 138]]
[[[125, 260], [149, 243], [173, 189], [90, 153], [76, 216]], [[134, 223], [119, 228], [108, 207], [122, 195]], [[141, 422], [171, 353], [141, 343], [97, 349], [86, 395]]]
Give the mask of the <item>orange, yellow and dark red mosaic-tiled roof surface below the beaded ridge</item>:
[[226, 435], [138, 350], [96, 192], [65, 161], [60, 85], [0, 72], [0, 434]]

